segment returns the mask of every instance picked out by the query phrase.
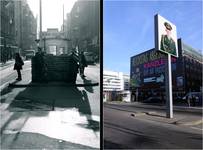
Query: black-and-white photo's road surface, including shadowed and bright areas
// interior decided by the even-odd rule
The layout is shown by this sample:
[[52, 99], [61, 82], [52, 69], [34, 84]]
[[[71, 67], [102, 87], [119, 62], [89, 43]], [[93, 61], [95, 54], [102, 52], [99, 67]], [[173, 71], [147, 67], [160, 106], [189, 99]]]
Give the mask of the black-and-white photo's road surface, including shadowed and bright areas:
[[[31, 79], [30, 70], [28, 62], [23, 80]], [[89, 66], [86, 80], [98, 81], [99, 72], [98, 66]], [[11, 70], [7, 72], [10, 73], [13, 74]], [[10, 81], [11, 77], [4, 77]], [[2, 148], [100, 147], [99, 86], [18, 87], [1, 94]]]

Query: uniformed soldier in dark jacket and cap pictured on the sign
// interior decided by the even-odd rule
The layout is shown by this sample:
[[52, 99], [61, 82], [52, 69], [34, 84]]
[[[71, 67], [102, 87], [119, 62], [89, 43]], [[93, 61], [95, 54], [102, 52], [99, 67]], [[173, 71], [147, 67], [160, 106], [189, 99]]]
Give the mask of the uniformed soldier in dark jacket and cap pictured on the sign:
[[161, 36], [161, 50], [166, 51], [170, 54], [176, 55], [176, 45], [175, 41], [171, 37], [172, 27], [169, 23], [165, 22], [164, 26], [166, 27], [166, 35]]

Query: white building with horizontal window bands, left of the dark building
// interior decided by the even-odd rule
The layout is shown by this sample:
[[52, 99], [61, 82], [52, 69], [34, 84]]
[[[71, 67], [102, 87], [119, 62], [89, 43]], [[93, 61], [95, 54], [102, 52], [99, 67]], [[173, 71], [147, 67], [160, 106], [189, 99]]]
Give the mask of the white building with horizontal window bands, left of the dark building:
[[103, 72], [103, 101], [130, 101], [129, 75], [122, 72]]

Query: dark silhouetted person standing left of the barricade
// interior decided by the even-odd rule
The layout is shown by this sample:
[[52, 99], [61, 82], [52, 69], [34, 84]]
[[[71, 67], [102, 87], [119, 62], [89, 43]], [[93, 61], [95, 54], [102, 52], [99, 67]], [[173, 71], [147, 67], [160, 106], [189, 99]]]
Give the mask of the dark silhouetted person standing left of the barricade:
[[18, 78], [16, 80], [20, 81], [22, 80], [22, 76], [21, 76], [21, 72], [20, 70], [22, 70], [22, 66], [24, 65], [24, 62], [20, 56], [19, 53], [15, 54], [15, 64], [14, 64], [14, 70], [17, 71], [18, 74]]

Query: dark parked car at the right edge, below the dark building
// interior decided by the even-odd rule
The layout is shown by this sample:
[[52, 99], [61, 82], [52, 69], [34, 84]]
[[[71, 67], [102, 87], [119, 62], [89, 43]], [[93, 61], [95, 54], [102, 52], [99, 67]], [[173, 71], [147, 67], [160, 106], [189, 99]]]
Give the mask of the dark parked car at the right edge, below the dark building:
[[187, 101], [188, 98], [195, 97], [196, 105], [202, 105], [202, 92], [189, 92], [187, 93], [182, 100]]

